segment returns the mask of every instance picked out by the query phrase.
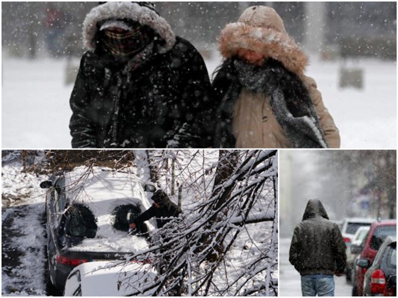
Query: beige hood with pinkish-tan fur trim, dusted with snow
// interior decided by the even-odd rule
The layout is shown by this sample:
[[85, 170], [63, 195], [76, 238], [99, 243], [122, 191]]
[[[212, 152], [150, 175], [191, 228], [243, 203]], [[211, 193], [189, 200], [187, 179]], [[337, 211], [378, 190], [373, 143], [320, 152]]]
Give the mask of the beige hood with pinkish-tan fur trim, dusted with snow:
[[237, 23], [224, 28], [219, 42], [221, 54], [226, 59], [236, 56], [243, 48], [278, 60], [297, 75], [302, 75], [308, 65], [308, 57], [289, 37], [278, 13], [269, 7], [248, 8]]

